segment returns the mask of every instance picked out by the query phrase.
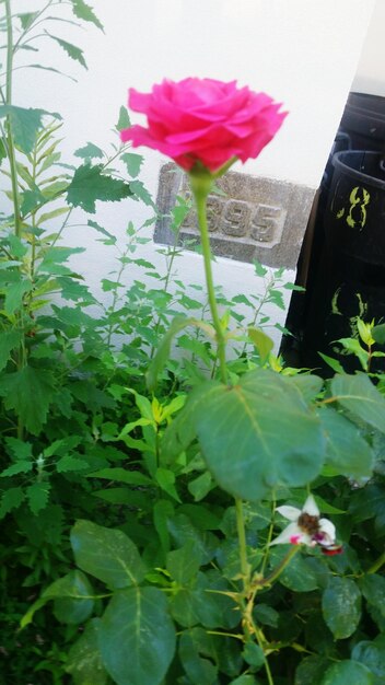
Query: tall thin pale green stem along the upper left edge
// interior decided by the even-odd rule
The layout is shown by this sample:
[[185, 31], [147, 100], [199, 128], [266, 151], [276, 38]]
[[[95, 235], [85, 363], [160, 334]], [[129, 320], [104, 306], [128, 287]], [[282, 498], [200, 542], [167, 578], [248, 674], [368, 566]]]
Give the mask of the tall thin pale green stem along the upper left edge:
[[[5, 15], [7, 15], [7, 90], [5, 102], [7, 105], [12, 105], [12, 71], [13, 71], [13, 26], [12, 26], [12, 10], [11, 0], [5, 1]], [[8, 136], [7, 136], [8, 156], [11, 171], [11, 184], [12, 184], [12, 199], [13, 199], [13, 213], [14, 213], [14, 232], [16, 237], [21, 236], [22, 222], [20, 212], [20, 199], [18, 187], [18, 167], [16, 155], [14, 149], [14, 140], [12, 135], [11, 117], [8, 116]]]

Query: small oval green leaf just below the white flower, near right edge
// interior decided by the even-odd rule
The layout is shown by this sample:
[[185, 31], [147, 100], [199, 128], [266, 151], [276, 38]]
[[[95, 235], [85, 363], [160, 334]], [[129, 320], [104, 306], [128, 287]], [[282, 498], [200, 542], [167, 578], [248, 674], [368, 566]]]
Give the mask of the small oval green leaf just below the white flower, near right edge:
[[330, 578], [323, 594], [323, 616], [337, 640], [350, 637], [361, 618], [361, 592], [350, 578]]

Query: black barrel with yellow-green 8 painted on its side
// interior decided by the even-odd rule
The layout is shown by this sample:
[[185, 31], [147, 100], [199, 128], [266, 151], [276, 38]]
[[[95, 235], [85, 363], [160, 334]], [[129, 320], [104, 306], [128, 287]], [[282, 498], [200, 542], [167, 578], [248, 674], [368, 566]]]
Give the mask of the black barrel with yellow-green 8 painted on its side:
[[[347, 371], [360, 369], [339, 338], [358, 337], [357, 320], [385, 321], [385, 166], [381, 152], [339, 152], [324, 212], [325, 246], [311, 299], [304, 359], [322, 364], [318, 351]], [[383, 371], [375, 359], [372, 371]]]

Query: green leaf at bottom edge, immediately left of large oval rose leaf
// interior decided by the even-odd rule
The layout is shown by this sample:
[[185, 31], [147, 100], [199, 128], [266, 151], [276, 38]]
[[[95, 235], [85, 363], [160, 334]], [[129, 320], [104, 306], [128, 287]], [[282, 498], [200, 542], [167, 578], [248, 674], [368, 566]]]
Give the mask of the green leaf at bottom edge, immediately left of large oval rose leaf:
[[98, 623], [97, 618], [91, 620], [69, 651], [66, 671], [71, 674], [74, 685], [106, 685], [108, 674], [98, 650]]

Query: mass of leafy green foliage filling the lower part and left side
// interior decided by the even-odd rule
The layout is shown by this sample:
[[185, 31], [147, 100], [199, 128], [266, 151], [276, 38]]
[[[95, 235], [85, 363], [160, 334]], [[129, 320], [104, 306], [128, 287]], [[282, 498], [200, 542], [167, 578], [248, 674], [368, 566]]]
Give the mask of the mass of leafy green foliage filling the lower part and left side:
[[[44, 35], [85, 66], [75, 38], [44, 22], [101, 22], [83, 0], [56, 9], [12, 19], [15, 60]], [[180, 248], [159, 249], [164, 269], [141, 254], [158, 216], [142, 156], [88, 142], [74, 169], [61, 160], [59, 115], [7, 102], [0, 116], [3, 677], [382, 684], [385, 411], [372, 373], [382, 325], [358, 322], [360, 339], [341, 341], [364, 373], [334, 360], [324, 383], [287, 368], [265, 310], [283, 310], [292, 286], [255, 263], [256, 292], [215, 290], [233, 355], [219, 372], [218, 323], [205, 289], [177, 277]], [[121, 107], [115, 136], [129, 125]], [[81, 274], [86, 252], [62, 237], [72, 208], [94, 214], [97, 201], [126, 197], [152, 210], [143, 227], [128, 221], [126, 241], [84, 219], [116, 257], [101, 298]], [[176, 244], [190, 211], [178, 195]], [[277, 507], [301, 510], [310, 490], [336, 544], [317, 544], [325, 521], [314, 515], [296, 524], [311, 546], [271, 546], [289, 523]]]

